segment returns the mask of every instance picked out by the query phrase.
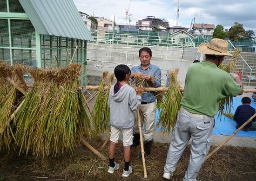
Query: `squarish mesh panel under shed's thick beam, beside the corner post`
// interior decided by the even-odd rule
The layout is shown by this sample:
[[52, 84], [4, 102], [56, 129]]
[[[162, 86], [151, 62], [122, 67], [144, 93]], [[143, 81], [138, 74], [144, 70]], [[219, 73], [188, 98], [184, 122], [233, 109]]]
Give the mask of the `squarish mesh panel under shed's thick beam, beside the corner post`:
[[34, 26], [29, 20], [12, 19], [12, 46], [31, 48], [32, 43], [35, 46], [35, 41], [31, 41], [34, 31]]

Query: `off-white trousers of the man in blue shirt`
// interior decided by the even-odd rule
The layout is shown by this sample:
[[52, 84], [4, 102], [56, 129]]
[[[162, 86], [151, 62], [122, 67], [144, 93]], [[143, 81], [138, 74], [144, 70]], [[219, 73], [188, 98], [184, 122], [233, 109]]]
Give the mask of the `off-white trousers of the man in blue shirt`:
[[[141, 118], [141, 127], [144, 124], [145, 132], [143, 134], [145, 141], [152, 141], [153, 139], [153, 133], [155, 130], [155, 109], [156, 109], [156, 101], [148, 103], [148, 104], [141, 104], [140, 106], [142, 115], [144, 117], [144, 122]], [[138, 120], [137, 120], [137, 113], [134, 112], [135, 116], [135, 124], [133, 127], [133, 133], [139, 134], [139, 128], [138, 128]]]

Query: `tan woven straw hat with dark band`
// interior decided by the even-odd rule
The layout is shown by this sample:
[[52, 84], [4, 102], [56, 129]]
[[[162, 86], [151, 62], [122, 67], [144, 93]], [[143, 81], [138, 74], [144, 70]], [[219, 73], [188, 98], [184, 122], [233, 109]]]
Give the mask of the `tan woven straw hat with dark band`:
[[229, 43], [219, 38], [212, 38], [209, 44], [202, 43], [198, 46], [198, 51], [203, 54], [217, 55], [217, 56], [232, 56], [228, 52], [228, 49], [229, 49]]

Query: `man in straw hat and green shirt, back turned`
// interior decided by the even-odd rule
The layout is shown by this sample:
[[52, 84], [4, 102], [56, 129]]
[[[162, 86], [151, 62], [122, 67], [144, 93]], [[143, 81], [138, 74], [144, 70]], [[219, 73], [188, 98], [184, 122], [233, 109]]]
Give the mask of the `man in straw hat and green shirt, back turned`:
[[218, 66], [228, 52], [228, 42], [213, 38], [202, 43], [198, 51], [205, 60], [189, 66], [172, 142], [167, 153], [163, 178], [170, 179], [189, 139], [191, 154], [183, 181], [196, 181], [198, 172], [207, 156], [212, 141], [214, 117], [222, 98], [243, 94], [243, 84], [235, 73], [227, 73]]

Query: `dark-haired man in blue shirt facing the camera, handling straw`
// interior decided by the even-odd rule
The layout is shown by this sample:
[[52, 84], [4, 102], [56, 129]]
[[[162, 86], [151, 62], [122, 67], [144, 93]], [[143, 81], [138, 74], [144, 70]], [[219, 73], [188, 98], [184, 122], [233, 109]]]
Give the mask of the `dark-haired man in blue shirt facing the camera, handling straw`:
[[[152, 65], [150, 60], [152, 58], [152, 51], [143, 47], [139, 50], [139, 56], [141, 64], [134, 66], [131, 69], [130, 81], [134, 82], [135, 77], [143, 77], [143, 80], [147, 82], [147, 85], [151, 87], [160, 87], [161, 86], [161, 70], [156, 65]], [[138, 83], [138, 82], [134, 82]], [[144, 83], [145, 84], [145, 83]], [[145, 87], [146, 85], [143, 85]], [[153, 133], [155, 128], [155, 108], [156, 108], [156, 97], [154, 92], [143, 92], [141, 95], [141, 112], [144, 119], [144, 128], [145, 132], [144, 137], [144, 156], [150, 155], [150, 148], [153, 140]], [[141, 125], [143, 122], [141, 121]], [[135, 113], [135, 125], [133, 128], [134, 139], [131, 148], [140, 144], [140, 133], [138, 129], [138, 120]], [[141, 157], [141, 154], [139, 155]]]

